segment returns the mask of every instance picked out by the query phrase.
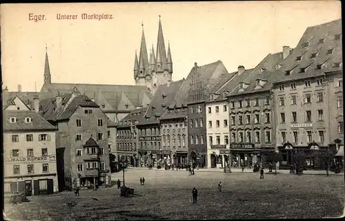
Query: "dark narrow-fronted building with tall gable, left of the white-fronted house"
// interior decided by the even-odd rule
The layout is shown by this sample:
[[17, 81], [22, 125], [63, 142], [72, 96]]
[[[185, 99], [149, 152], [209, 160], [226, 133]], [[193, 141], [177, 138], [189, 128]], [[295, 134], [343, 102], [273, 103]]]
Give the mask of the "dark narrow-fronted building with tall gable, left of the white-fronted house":
[[187, 98], [188, 147], [191, 162], [199, 167], [207, 167], [205, 102], [221, 74], [228, 74], [228, 71], [221, 61], [217, 61], [203, 66], [195, 63], [187, 77], [190, 78]]

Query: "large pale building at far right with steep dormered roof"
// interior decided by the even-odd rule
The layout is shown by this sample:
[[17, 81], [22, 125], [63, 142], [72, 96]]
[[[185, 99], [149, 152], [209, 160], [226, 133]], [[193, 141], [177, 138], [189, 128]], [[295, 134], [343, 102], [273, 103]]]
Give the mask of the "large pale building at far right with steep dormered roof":
[[[277, 146], [281, 167], [304, 151], [306, 165], [322, 168], [318, 154], [343, 139], [342, 22], [309, 27], [273, 75]], [[342, 141], [343, 143], [343, 141]]]

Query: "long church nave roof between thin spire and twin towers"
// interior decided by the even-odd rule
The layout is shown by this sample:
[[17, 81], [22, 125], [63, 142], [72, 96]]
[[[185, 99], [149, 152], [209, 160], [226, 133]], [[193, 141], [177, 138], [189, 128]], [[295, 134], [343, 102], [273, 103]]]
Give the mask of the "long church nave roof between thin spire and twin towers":
[[[76, 88], [76, 89], [75, 89]], [[58, 94], [68, 94], [77, 90], [81, 94], [85, 94], [89, 98], [95, 99], [99, 105], [103, 105], [103, 101], [97, 101], [97, 97], [101, 92], [104, 102], [108, 103], [110, 110], [130, 112], [131, 109], [125, 105], [119, 105], [121, 99], [126, 96], [133, 108], [143, 105], [143, 101], [152, 98], [150, 90], [146, 86], [137, 85], [93, 85], [78, 83], [50, 83], [44, 84], [41, 92], [49, 92], [54, 97]], [[125, 99], [126, 99], [125, 98]], [[147, 103], [149, 103], [149, 101]]]

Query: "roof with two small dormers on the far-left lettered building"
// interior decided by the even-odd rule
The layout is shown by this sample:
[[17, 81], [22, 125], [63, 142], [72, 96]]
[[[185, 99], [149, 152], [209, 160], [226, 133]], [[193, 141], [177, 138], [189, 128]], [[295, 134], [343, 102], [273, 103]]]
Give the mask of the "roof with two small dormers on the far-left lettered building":
[[[10, 117], [17, 118], [15, 123], [10, 123]], [[25, 122], [25, 118], [31, 118], [30, 123]], [[25, 110], [4, 110], [3, 111], [3, 131], [12, 131], [12, 130], [57, 130], [56, 127], [52, 126], [40, 116], [37, 112], [34, 111], [25, 111]]]

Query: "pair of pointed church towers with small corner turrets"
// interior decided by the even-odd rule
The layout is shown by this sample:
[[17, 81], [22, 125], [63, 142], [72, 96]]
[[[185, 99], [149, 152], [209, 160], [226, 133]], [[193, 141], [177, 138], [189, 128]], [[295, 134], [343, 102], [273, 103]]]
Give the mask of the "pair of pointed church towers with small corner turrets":
[[[161, 28], [161, 17], [159, 16], [158, 36], [156, 54], [154, 46], [150, 49], [150, 59], [146, 50], [146, 40], [144, 34], [144, 25], [141, 34], [141, 45], [139, 52], [139, 61], [137, 51], [135, 52], [134, 78], [137, 85], [148, 85], [148, 81], [152, 83], [152, 87], [158, 84], [164, 84], [171, 81], [172, 74], [172, 58], [170, 52], [170, 43], [168, 44], [168, 55], [166, 54], [166, 46], [164, 43], [163, 29]], [[164, 75], [159, 77], [158, 75]], [[142, 80], [140, 82], [140, 80]], [[151, 88], [151, 87], [150, 87]]]

